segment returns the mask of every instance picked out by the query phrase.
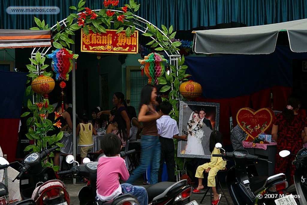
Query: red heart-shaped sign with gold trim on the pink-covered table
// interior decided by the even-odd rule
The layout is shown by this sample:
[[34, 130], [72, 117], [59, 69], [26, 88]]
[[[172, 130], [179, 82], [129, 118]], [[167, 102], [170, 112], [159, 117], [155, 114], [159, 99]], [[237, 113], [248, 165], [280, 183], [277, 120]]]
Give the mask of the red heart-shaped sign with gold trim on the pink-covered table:
[[247, 141], [254, 140], [259, 134], [272, 126], [274, 112], [270, 108], [257, 111], [251, 108], [241, 108], [237, 113], [237, 123], [247, 133]]

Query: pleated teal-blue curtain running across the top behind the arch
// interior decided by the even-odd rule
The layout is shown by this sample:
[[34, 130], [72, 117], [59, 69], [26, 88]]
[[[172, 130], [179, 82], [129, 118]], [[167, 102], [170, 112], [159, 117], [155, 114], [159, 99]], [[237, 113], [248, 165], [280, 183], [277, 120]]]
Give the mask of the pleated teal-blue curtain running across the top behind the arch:
[[[29, 29], [35, 26], [34, 16], [45, 19], [49, 26], [61, 21], [69, 14], [69, 6], [77, 0], [2, 0], [0, 1], [0, 29]], [[119, 6], [128, 3], [119, 0]], [[247, 26], [286, 22], [307, 18], [307, 0], [138, 0], [141, 4], [137, 15], [154, 25], [161, 24], [174, 30], [192, 30], [200, 26], [215, 26], [221, 23], [238, 22]], [[57, 15], [13, 15], [7, 14], [8, 6], [58, 6]], [[103, 0], [88, 0], [91, 9], [103, 7]]]

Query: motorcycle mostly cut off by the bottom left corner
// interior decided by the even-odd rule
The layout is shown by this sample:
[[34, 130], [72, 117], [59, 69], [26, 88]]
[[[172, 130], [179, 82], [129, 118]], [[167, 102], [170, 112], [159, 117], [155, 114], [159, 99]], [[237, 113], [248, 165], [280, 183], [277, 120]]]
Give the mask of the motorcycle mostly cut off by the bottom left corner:
[[[10, 163], [2, 156], [0, 156], [0, 169], [5, 169], [10, 166]], [[8, 188], [5, 184], [0, 183], [0, 204], [14, 204], [14, 205], [35, 205], [35, 202], [32, 199], [28, 199], [25, 201], [18, 202], [18, 199], [16, 200], [10, 200], [8, 201], [6, 199], [6, 195], [8, 195]]]

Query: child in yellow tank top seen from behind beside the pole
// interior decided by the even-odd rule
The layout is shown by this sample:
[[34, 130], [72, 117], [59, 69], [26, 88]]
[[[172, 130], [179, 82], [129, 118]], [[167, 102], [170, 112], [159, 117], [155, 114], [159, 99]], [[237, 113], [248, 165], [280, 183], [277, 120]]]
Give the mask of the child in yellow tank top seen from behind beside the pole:
[[88, 122], [86, 111], [83, 110], [79, 115], [80, 123], [76, 128], [76, 135], [79, 134], [79, 146], [81, 152], [81, 164], [83, 164], [83, 159], [87, 156], [93, 149], [93, 134], [97, 135], [96, 130], [93, 125]]

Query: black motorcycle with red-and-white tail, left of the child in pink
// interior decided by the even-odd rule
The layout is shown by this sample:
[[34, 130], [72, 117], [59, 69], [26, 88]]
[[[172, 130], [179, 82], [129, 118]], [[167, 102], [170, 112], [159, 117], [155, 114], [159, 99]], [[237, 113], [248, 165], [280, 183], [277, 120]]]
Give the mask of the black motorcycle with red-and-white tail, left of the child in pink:
[[[37, 205], [69, 205], [70, 199], [66, 186], [58, 180], [57, 175], [50, 167], [42, 167], [41, 161], [54, 150], [54, 146], [41, 152], [33, 152], [22, 160], [19, 174], [21, 199], [33, 199]], [[13, 181], [14, 181], [13, 180]]]

